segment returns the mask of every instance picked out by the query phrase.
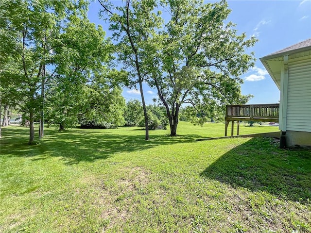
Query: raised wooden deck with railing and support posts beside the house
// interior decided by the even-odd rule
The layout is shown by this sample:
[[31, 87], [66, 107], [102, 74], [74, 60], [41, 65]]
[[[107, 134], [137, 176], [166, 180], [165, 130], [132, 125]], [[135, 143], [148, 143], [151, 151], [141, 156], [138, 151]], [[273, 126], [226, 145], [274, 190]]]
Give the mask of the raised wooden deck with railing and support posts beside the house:
[[274, 104], [246, 104], [246, 105], [227, 105], [225, 111], [225, 136], [230, 121], [231, 136], [233, 136], [234, 121], [237, 121], [237, 135], [240, 131], [240, 121], [263, 121], [263, 122], [278, 122], [279, 103]]

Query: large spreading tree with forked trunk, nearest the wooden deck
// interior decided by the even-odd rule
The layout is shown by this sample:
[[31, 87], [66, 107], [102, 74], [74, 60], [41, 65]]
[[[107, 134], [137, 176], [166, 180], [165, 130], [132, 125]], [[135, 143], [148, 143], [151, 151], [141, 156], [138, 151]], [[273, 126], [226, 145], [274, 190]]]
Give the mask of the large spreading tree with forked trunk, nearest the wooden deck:
[[165, 0], [162, 6], [171, 19], [155, 37], [158, 55], [150, 63], [148, 83], [157, 89], [175, 136], [182, 104], [205, 116], [197, 118], [203, 123], [225, 104], [249, 99], [241, 95], [241, 75], [254, 65], [254, 54], [246, 50], [256, 39], [225, 23], [230, 13], [225, 0]]

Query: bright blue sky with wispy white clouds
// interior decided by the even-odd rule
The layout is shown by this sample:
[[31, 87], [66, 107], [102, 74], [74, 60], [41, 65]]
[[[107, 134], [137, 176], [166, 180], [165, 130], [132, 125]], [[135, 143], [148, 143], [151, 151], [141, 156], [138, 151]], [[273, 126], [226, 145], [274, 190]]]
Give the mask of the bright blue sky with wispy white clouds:
[[[113, 3], [122, 4], [122, 1]], [[248, 37], [254, 35], [259, 39], [251, 49], [255, 51], [256, 65], [242, 75], [242, 94], [254, 96], [250, 104], [277, 103], [279, 90], [259, 58], [311, 38], [311, 0], [228, 0], [228, 4], [231, 9], [228, 21], [237, 25], [238, 33], [245, 32]], [[101, 24], [107, 36], [111, 36], [108, 23], [98, 17], [100, 9], [97, 1], [91, 2], [89, 20]], [[156, 91], [148, 85], [143, 88], [146, 103], [152, 104]], [[126, 100], [140, 100], [140, 93], [135, 89], [123, 88], [123, 96]]]

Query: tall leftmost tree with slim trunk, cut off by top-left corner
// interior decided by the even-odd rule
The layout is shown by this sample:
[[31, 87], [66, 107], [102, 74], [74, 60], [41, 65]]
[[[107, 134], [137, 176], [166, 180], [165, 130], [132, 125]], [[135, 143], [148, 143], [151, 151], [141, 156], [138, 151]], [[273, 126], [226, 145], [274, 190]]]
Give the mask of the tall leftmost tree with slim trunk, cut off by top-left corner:
[[57, 69], [52, 45], [56, 41], [62, 44], [60, 35], [66, 31], [68, 22], [86, 17], [87, 3], [84, 0], [3, 0], [0, 8], [0, 40], [5, 45], [1, 46], [1, 55], [11, 57], [18, 70], [5, 69], [2, 77], [11, 79], [16, 87], [17, 95], [12, 98], [22, 97], [22, 111], [30, 121], [29, 143], [32, 144], [34, 121], [43, 108], [40, 89], [48, 81], [45, 67], [54, 69], [52, 74]]

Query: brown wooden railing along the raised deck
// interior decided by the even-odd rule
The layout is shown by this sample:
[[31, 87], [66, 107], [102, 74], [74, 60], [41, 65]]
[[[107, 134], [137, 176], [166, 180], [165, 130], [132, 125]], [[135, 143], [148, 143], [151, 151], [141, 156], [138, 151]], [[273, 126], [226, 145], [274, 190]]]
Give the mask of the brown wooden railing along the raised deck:
[[226, 117], [277, 119], [278, 115], [279, 115], [279, 103], [226, 106]]

